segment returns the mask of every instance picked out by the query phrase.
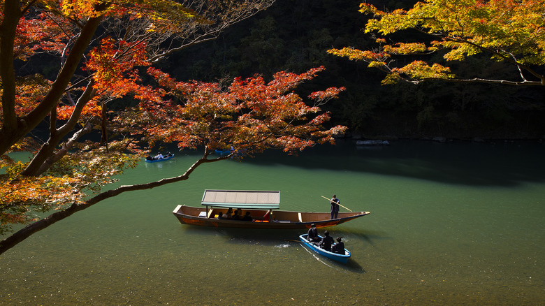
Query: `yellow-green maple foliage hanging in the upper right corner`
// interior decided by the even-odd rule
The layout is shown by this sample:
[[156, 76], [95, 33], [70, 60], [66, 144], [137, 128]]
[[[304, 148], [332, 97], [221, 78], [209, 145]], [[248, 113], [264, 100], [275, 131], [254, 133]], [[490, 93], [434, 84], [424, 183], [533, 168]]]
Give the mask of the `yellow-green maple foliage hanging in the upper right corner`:
[[[369, 67], [386, 72], [383, 84], [447, 80], [545, 85], [545, 75], [536, 68], [545, 64], [545, 2], [542, 0], [427, 0], [416, 3], [409, 10], [391, 12], [361, 3], [359, 11], [373, 16], [365, 26], [366, 33], [388, 36], [413, 29], [433, 39], [387, 43], [384, 37], [379, 37], [377, 50], [328, 50], [330, 54], [365, 61]], [[518, 76], [512, 80], [459, 78], [448, 66], [423, 60], [396, 66], [395, 57], [437, 52], [441, 52], [446, 61], [484, 55], [513, 66], [514, 75]]]

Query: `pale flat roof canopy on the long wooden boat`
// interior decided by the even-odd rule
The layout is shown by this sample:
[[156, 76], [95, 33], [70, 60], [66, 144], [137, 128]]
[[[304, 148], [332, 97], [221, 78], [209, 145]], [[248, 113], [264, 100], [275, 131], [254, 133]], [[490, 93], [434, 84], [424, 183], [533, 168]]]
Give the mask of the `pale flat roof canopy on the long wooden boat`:
[[202, 205], [254, 210], [276, 210], [280, 191], [205, 190]]

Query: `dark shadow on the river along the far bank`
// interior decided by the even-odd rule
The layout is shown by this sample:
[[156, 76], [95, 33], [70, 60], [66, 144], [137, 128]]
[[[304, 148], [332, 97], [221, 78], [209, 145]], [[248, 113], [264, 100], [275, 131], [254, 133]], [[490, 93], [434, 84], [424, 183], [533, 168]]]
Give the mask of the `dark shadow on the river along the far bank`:
[[[268, 151], [244, 163], [293, 166], [346, 172], [412, 177], [433, 182], [476, 186], [514, 186], [545, 180], [543, 143], [436, 143], [399, 140], [380, 147], [357, 146], [353, 140], [319, 145], [286, 156]], [[328, 162], [324, 163], [324, 156]], [[236, 161], [233, 161], [236, 162]]]

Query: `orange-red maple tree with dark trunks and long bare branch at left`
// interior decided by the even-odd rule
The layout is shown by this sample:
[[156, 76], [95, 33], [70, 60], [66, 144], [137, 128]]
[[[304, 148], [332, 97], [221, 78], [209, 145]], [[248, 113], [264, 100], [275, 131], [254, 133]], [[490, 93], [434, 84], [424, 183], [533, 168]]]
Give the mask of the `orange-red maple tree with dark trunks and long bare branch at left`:
[[[277, 73], [270, 82], [260, 76], [235, 79], [228, 87], [177, 82], [152, 68], [271, 3], [2, 1], [0, 234], [10, 233], [12, 224], [27, 226], [0, 242], [0, 254], [105, 198], [187, 180], [199, 165], [231, 157], [210, 156], [217, 147], [233, 146], [249, 156], [270, 147], [291, 153], [343, 133], [342, 126], [324, 128], [329, 114], [320, 109], [342, 88], [312, 93], [310, 105], [291, 92], [323, 67]], [[40, 54], [59, 59], [54, 80], [17, 74], [17, 63], [31, 63]], [[111, 101], [128, 95], [140, 101], [138, 107], [108, 112]], [[40, 122], [49, 124], [44, 143], [29, 137]], [[82, 140], [94, 130], [100, 141]], [[101, 192], [142, 159], [141, 139], [205, 150], [180, 176]], [[15, 161], [8, 153], [17, 150], [34, 153], [29, 162]], [[50, 210], [55, 212], [39, 217]]]

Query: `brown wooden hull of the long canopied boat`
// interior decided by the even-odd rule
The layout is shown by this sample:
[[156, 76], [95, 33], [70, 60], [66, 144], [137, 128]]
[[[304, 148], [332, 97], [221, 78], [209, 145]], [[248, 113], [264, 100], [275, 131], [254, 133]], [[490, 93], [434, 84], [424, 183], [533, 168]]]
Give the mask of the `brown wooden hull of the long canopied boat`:
[[[212, 210], [212, 212], [210, 212]], [[274, 210], [271, 219], [263, 219], [267, 210], [244, 210], [249, 211], [253, 221], [242, 221], [232, 219], [217, 219], [217, 215], [225, 212], [226, 209], [204, 207], [191, 207], [178, 205], [173, 214], [182, 224], [196, 226], [212, 226], [224, 228], [263, 228], [263, 229], [302, 229], [310, 228], [311, 224], [316, 227], [335, 226], [344, 222], [363, 217], [369, 212], [339, 212], [338, 219], [329, 219], [329, 212], [290, 212], [286, 210]]]

